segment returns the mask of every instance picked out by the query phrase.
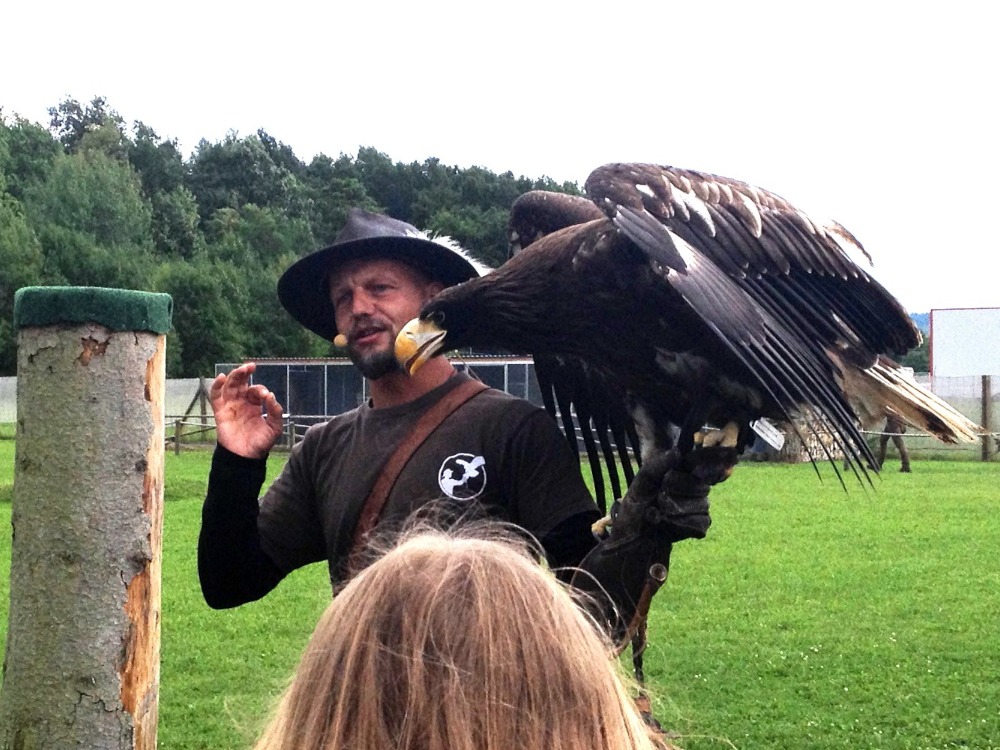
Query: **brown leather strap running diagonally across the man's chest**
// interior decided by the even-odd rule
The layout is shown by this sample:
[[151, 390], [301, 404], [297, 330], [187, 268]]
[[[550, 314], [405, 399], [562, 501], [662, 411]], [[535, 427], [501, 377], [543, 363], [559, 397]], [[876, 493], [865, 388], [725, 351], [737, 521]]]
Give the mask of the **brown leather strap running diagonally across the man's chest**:
[[365, 498], [365, 504], [361, 507], [361, 515], [358, 517], [358, 523], [354, 527], [354, 536], [351, 540], [351, 553], [348, 558], [348, 570], [351, 575], [357, 572], [357, 563], [360, 560], [365, 543], [368, 541], [368, 536], [378, 523], [382, 508], [385, 506], [386, 500], [389, 499], [389, 493], [396, 484], [396, 479], [399, 477], [400, 472], [403, 471], [403, 467], [409, 462], [410, 457], [423, 444], [428, 435], [434, 432], [438, 425], [448, 418], [449, 414], [476, 394], [485, 391], [487, 387], [485, 383], [479, 380], [466, 380], [461, 385], [453, 388], [440, 401], [420, 416], [420, 419], [413, 425], [413, 429], [403, 439], [403, 442], [397, 446], [395, 452], [389, 457], [389, 460], [385, 462], [382, 471], [379, 472], [378, 478], [375, 480], [375, 484], [372, 486], [371, 492]]

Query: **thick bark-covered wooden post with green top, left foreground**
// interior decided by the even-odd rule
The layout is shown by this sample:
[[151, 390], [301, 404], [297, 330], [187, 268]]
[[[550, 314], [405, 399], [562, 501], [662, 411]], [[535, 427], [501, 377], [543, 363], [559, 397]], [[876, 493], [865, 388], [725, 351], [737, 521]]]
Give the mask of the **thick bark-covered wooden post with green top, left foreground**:
[[171, 301], [18, 290], [0, 750], [156, 747]]

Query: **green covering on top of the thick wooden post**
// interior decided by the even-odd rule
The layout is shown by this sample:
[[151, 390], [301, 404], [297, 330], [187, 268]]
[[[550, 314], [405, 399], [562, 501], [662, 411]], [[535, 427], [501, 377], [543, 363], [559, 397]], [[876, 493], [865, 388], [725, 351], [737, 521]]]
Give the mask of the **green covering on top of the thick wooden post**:
[[113, 331], [170, 330], [169, 294], [96, 286], [26, 286], [14, 293], [14, 327], [98, 323]]

